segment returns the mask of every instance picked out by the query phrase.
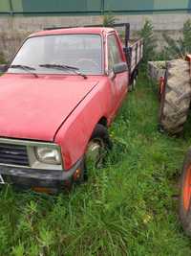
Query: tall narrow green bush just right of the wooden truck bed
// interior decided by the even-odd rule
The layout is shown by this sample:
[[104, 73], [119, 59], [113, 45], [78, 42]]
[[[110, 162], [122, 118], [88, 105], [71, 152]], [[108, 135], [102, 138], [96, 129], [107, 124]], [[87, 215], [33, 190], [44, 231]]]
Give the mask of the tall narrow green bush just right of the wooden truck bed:
[[156, 56], [156, 39], [153, 33], [153, 24], [149, 19], [145, 20], [145, 23], [138, 35], [143, 38], [144, 50], [143, 50], [143, 62], [147, 63], [149, 60], [153, 60]]

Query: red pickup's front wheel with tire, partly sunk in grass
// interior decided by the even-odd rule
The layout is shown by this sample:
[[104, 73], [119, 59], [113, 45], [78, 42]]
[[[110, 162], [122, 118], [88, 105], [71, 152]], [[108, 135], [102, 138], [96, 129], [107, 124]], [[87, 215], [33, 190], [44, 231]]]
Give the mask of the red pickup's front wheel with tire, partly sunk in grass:
[[97, 124], [84, 155], [85, 178], [87, 177], [87, 171], [90, 168], [102, 167], [106, 153], [111, 148], [112, 143], [107, 128]]

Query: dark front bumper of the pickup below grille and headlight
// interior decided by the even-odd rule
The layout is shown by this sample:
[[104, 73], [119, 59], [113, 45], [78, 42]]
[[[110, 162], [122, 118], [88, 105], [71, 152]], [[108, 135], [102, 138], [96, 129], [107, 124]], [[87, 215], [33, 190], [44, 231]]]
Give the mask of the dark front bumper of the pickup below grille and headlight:
[[81, 164], [82, 159], [79, 159], [68, 171], [0, 166], [0, 175], [5, 183], [25, 189], [36, 187], [60, 189], [73, 182], [73, 175], [81, 168]]

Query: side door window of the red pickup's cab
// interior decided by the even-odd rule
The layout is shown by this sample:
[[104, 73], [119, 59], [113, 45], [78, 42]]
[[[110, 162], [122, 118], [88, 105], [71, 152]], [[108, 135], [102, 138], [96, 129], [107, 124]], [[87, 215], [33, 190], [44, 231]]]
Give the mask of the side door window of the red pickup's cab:
[[114, 64], [120, 63], [122, 61], [116, 35], [108, 36], [108, 68], [109, 72], [113, 70]]

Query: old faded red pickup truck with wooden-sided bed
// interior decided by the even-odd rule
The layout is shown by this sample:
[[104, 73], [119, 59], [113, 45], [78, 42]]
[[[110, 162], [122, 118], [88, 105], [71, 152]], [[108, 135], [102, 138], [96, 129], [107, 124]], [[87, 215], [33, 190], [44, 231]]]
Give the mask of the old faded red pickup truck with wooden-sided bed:
[[108, 126], [138, 76], [142, 40], [103, 27], [30, 35], [0, 78], [0, 183], [62, 188], [98, 166]]

